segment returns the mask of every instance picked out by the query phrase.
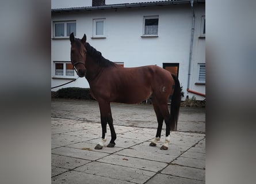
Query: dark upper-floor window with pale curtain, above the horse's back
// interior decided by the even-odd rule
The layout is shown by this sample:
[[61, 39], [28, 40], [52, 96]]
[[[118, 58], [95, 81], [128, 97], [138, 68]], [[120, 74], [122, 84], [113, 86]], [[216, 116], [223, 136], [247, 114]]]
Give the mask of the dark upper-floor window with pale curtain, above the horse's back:
[[158, 16], [144, 16], [143, 36], [158, 36]]

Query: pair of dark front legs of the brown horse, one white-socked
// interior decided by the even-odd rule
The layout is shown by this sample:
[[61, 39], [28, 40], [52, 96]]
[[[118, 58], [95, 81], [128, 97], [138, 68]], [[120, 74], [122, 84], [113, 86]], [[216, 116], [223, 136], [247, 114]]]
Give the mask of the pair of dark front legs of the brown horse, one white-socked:
[[101, 113], [101, 128], [102, 128], [102, 137], [100, 143], [95, 146], [95, 150], [101, 150], [104, 143], [106, 142], [105, 135], [106, 135], [106, 124], [109, 124], [110, 132], [111, 132], [111, 140], [107, 147], [114, 147], [116, 143], [116, 132], [114, 131], [113, 127], [113, 118], [110, 109], [110, 103], [105, 101], [99, 101], [100, 106], [100, 113]]

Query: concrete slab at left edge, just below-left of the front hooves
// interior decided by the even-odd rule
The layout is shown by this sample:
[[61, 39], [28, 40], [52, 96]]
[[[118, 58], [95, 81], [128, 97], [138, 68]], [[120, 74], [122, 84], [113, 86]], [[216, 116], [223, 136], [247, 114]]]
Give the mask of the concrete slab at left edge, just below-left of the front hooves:
[[109, 154], [96, 152], [96, 151], [88, 151], [88, 150], [81, 150], [77, 148], [67, 148], [67, 147], [60, 147], [55, 148], [52, 150], [52, 154], [56, 155], [63, 155], [63, 156], [71, 156], [73, 158], [80, 158], [86, 160], [97, 160], [107, 156]]

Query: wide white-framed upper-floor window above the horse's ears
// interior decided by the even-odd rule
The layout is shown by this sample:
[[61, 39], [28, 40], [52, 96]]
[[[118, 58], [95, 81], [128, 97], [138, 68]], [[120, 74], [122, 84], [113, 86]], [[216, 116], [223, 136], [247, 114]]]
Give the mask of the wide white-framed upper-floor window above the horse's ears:
[[54, 37], [69, 37], [71, 33], [76, 35], [77, 23], [75, 21], [58, 21], [54, 22]]

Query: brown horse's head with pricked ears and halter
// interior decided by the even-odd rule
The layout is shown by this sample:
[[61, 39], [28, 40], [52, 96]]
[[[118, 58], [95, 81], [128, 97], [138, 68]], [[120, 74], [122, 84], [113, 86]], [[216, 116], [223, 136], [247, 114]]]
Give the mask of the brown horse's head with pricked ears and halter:
[[74, 66], [75, 71], [77, 72], [77, 75], [80, 77], [85, 76], [86, 74], [86, 68], [85, 68], [85, 62], [86, 62], [86, 35], [83, 35], [83, 38], [75, 39], [74, 33], [70, 34], [70, 42], [71, 42], [71, 63]]

